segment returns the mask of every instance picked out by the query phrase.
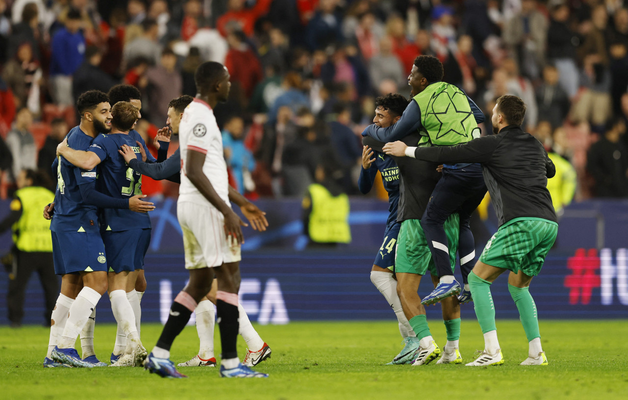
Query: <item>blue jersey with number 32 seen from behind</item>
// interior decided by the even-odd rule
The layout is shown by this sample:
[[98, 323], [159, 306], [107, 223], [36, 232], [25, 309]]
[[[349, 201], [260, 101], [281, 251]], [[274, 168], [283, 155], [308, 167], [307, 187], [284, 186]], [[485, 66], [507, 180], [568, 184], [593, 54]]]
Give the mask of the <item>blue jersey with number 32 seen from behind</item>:
[[[136, 194], [142, 194], [142, 175], [133, 171], [124, 162], [124, 157], [118, 150], [124, 144], [131, 147], [141, 161], [136, 140], [141, 143], [146, 152], [146, 162], [155, 162], [142, 137], [131, 130], [126, 134], [102, 134], [98, 135], [89, 151], [94, 152], [100, 158], [96, 189], [107, 196], [116, 199], [129, 199]], [[151, 219], [148, 213], [136, 213], [129, 209], [105, 208], [100, 210], [100, 226], [107, 231], [127, 231], [129, 229], [144, 229], [151, 227]]]

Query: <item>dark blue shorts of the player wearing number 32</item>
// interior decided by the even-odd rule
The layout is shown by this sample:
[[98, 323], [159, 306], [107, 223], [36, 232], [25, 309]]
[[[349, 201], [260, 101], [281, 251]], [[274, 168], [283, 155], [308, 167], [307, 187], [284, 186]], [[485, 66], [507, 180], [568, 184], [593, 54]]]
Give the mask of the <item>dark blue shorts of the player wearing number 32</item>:
[[151, 229], [103, 231], [101, 234], [109, 257], [109, 272], [144, 269], [144, 256], [151, 243]]

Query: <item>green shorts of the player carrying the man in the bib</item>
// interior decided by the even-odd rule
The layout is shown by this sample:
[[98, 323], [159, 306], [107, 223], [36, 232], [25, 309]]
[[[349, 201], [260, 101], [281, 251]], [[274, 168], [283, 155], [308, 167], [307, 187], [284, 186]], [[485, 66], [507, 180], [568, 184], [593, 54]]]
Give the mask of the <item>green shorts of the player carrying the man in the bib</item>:
[[[458, 235], [460, 234], [460, 219], [457, 213], [450, 215], [445, 221], [445, 233], [447, 234], [449, 260], [453, 272], [456, 266]], [[420, 219], [407, 219], [401, 223], [399, 230], [394, 271], [396, 273], [425, 275], [428, 269], [432, 275], [436, 275], [436, 266], [432, 260], [421, 221]]]

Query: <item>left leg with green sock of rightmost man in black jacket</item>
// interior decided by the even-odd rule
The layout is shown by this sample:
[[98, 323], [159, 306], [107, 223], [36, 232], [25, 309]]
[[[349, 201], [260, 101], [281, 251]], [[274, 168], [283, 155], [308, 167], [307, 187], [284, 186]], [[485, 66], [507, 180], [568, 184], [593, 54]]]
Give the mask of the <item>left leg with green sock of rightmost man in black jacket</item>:
[[487, 366], [504, 364], [499, 340], [497, 340], [497, 328], [495, 327], [495, 306], [490, 295], [490, 285], [497, 276], [506, 271], [504, 268], [477, 261], [474, 269], [468, 276], [471, 295], [474, 299], [475, 315], [477, 322], [484, 334], [484, 352], [467, 366]]

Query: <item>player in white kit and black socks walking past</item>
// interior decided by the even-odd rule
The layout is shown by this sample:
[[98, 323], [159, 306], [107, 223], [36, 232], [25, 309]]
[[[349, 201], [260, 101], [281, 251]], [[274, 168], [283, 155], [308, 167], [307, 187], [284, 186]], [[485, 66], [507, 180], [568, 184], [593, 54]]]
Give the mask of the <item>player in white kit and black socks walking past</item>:
[[181, 187], [177, 216], [183, 231], [185, 268], [190, 281], [175, 297], [157, 345], [144, 366], [160, 376], [185, 377], [170, 361], [170, 347], [198, 302], [218, 280], [217, 317], [222, 344], [222, 377], [268, 377], [243, 366], [237, 357], [239, 261], [244, 222], [231, 209], [222, 137], [213, 108], [229, 96], [229, 71], [220, 63], [198, 66], [197, 98], [180, 124]]

